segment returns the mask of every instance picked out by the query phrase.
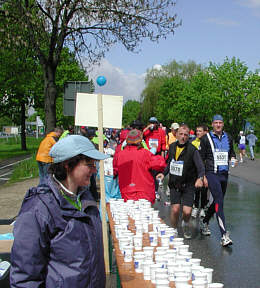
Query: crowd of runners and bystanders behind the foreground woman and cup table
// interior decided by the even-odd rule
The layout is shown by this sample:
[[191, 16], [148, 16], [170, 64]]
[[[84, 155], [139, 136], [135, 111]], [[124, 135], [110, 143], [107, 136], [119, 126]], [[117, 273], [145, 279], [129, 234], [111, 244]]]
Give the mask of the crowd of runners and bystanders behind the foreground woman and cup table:
[[[228, 170], [230, 166], [244, 161], [247, 142], [251, 160], [254, 160], [257, 138], [253, 131], [247, 136], [243, 131], [239, 133], [235, 139], [239, 150], [237, 160], [233, 140], [224, 131], [221, 115], [212, 118], [212, 127], [202, 123], [194, 130], [185, 123], [172, 123], [167, 129], [156, 117], [151, 117], [147, 125], [136, 120], [121, 130], [104, 129], [104, 153], [110, 156], [104, 160], [106, 201], [122, 197], [125, 201], [144, 198], [154, 203], [161, 200], [162, 189], [159, 187], [164, 185], [167, 196], [164, 205], [171, 207], [171, 224], [176, 231], [181, 217], [180, 226], [184, 237], [191, 238], [190, 217], [198, 217], [201, 234], [209, 236], [209, 221], [216, 214], [221, 245], [228, 246], [232, 240], [226, 230], [223, 210]], [[59, 128], [52, 134], [57, 134], [57, 131], [61, 134]], [[57, 135], [52, 134], [42, 141], [50, 142], [51, 139], [49, 150], [57, 141]], [[87, 137], [98, 148], [98, 132], [95, 128], [82, 126], [76, 133], [73, 127], [68, 127], [60, 138], [71, 134]], [[44, 149], [41, 146], [37, 155], [40, 182], [51, 164], [49, 151], [45, 149], [46, 143]], [[48, 160], [45, 162], [49, 163], [42, 160], [42, 150]], [[95, 200], [99, 197], [96, 188], [98, 176], [97, 169], [97, 173], [91, 176], [90, 184]]]

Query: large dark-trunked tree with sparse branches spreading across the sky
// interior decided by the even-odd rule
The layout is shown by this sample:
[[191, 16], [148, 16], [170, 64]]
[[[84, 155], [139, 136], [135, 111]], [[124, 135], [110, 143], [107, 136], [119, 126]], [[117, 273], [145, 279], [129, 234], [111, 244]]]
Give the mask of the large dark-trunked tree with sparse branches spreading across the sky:
[[[6, 28], [0, 33], [32, 47], [40, 61], [47, 131], [56, 124], [56, 71], [64, 46], [91, 62], [117, 42], [135, 51], [144, 38], [158, 41], [174, 32], [179, 25], [174, 6], [171, 0], [6, 0], [0, 8]], [[20, 31], [9, 28], [13, 22]]]

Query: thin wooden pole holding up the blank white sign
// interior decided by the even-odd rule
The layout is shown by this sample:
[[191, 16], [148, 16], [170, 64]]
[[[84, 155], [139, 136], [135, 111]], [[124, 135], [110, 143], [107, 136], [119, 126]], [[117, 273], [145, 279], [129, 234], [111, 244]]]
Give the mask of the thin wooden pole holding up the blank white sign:
[[[103, 145], [103, 103], [102, 94], [98, 94], [98, 145], [99, 151], [104, 153]], [[103, 246], [106, 274], [110, 273], [109, 267], [109, 253], [108, 253], [108, 231], [106, 221], [106, 195], [105, 195], [105, 179], [104, 179], [104, 161], [99, 161], [99, 175], [100, 175], [100, 196], [101, 196], [101, 213], [102, 213], [102, 230], [103, 230]]]

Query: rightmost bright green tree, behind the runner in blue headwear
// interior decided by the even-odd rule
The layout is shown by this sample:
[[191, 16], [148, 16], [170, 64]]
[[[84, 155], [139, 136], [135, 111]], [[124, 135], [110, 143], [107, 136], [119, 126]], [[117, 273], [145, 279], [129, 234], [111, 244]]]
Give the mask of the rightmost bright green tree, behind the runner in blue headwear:
[[210, 63], [209, 71], [218, 87], [215, 114], [224, 116], [226, 129], [236, 138], [244, 121], [259, 111], [260, 77], [235, 57], [222, 65]]

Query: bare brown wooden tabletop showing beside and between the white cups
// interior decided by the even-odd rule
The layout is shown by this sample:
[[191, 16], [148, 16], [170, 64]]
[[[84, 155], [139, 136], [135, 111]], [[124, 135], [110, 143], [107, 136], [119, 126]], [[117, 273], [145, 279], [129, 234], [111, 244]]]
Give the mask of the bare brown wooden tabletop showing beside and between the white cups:
[[[110, 231], [113, 239], [114, 249], [115, 249], [115, 256], [117, 262], [117, 269], [120, 277], [121, 287], [122, 288], [155, 288], [156, 285], [153, 284], [151, 281], [144, 280], [143, 273], [136, 273], [134, 268], [134, 262], [126, 263], [124, 262], [124, 256], [119, 249], [119, 242], [116, 238], [115, 234], [115, 222], [112, 218], [110, 212], [110, 206], [107, 204], [107, 214], [109, 219]], [[134, 220], [130, 219], [129, 221], [129, 230], [133, 232], [134, 230]], [[149, 227], [149, 231], [152, 231], [152, 225]], [[159, 240], [159, 239], [158, 239]], [[160, 243], [158, 242], [158, 246]], [[150, 246], [148, 233], [144, 233], [143, 235], [143, 246]], [[170, 282], [170, 287], [175, 287], [174, 282]]]

